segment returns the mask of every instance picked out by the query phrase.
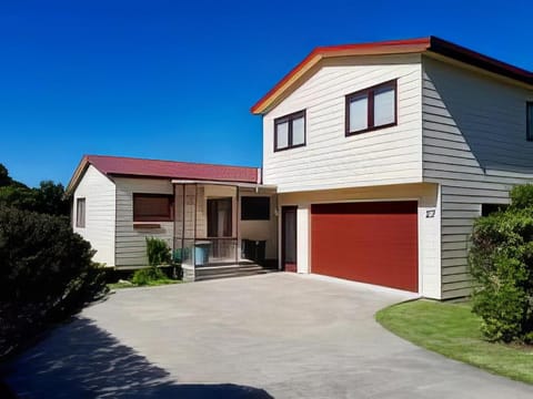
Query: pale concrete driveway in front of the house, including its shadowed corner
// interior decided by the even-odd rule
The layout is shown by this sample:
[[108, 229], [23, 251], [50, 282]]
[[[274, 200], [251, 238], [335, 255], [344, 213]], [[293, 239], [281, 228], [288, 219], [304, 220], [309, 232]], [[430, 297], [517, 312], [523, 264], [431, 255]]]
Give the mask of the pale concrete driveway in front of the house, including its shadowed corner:
[[374, 313], [405, 293], [294, 274], [124, 289], [22, 356], [23, 398], [532, 398]]

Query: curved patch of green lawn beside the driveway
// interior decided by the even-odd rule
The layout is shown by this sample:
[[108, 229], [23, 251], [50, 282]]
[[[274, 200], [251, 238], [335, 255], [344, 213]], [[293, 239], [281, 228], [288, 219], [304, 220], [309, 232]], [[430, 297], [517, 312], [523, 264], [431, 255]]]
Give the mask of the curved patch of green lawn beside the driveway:
[[423, 348], [519, 381], [533, 383], [533, 348], [491, 344], [467, 304], [415, 300], [378, 311], [390, 331]]

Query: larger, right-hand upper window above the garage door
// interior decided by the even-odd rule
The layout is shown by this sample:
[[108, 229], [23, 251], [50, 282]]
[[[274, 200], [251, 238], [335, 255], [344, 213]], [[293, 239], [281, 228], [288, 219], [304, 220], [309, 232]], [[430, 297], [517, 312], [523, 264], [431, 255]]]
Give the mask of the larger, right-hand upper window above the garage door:
[[346, 95], [346, 135], [396, 124], [396, 81]]

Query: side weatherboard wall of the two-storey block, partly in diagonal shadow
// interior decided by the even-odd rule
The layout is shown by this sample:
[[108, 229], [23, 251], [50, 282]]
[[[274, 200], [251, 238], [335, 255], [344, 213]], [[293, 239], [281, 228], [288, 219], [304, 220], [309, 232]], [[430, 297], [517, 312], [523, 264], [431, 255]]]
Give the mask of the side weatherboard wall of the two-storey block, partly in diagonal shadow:
[[481, 204], [533, 181], [525, 102], [533, 90], [423, 58], [423, 175], [441, 184], [442, 298], [467, 295], [467, 243]]

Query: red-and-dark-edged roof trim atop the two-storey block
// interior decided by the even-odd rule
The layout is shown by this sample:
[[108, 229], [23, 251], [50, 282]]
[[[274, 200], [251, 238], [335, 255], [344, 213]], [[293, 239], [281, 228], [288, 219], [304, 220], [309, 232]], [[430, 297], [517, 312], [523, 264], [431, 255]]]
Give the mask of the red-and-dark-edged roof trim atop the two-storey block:
[[251, 109], [254, 114], [264, 114], [283, 100], [291, 90], [300, 84], [308, 72], [320, 61], [335, 57], [351, 55], [389, 55], [408, 53], [434, 53], [473, 66], [484, 69], [519, 82], [533, 84], [533, 73], [524, 69], [495, 60], [452, 42], [435, 38], [392, 40], [375, 43], [343, 44], [315, 48], [292, 71], [279, 81]]

